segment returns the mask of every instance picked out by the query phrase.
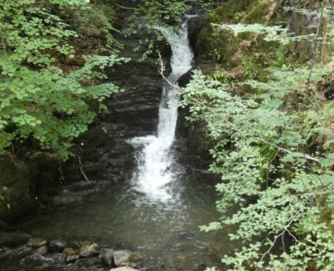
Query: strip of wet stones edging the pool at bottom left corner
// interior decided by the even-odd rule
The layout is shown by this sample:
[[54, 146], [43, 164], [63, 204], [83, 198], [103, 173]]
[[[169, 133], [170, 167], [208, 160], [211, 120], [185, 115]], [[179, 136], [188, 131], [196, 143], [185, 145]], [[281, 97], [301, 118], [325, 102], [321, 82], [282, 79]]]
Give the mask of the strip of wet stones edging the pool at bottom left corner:
[[147, 270], [139, 253], [91, 241], [47, 240], [23, 232], [1, 232], [0, 245], [1, 270]]

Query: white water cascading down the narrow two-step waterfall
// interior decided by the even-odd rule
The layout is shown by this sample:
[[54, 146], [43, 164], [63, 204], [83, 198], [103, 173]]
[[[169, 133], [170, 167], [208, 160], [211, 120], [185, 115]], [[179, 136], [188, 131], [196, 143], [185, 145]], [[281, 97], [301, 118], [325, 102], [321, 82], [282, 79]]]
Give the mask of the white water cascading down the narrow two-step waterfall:
[[[172, 46], [172, 73], [168, 80], [176, 85], [181, 75], [191, 69], [193, 60], [188, 40], [187, 22], [181, 24], [178, 33], [167, 29], [160, 30]], [[171, 146], [175, 136], [179, 100], [180, 96], [176, 89], [166, 82], [159, 107], [157, 136], [147, 135], [129, 140], [133, 145], [144, 146], [137, 156], [138, 168], [133, 175], [134, 188], [153, 201], [166, 202], [172, 198], [172, 192], [167, 184], [175, 179]]]

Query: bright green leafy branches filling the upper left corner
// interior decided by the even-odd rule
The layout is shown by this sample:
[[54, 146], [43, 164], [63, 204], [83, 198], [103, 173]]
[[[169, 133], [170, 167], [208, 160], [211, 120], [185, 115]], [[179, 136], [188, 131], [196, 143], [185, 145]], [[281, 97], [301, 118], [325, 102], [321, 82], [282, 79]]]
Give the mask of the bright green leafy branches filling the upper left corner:
[[33, 139], [43, 149], [68, 158], [72, 139], [86, 131], [96, 115], [89, 104], [119, 91], [110, 83], [89, 87], [82, 83], [105, 79], [105, 67], [126, 61], [116, 54], [85, 56], [85, 65], [70, 74], [57, 67], [56, 55], [74, 57], [69, 38], [78, 34], [51, 9], [88, 8], [87, 3], [0, 3], [0, 152], [13, 141]]

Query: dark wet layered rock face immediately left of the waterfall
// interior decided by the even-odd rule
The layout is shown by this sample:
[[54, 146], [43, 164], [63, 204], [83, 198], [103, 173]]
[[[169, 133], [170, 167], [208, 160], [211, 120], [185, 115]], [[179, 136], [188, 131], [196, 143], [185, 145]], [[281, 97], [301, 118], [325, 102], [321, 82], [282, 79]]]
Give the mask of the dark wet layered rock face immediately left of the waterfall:
[[[129, 6], [132, 4], [128, 3]], [[119, 10], [122, 21], [128, 20], [127, 12]], [[126, 39], [117, 34], [115, 37], [124, 44], [121, 55], [131, 58], [131, 61], [110, 68], [107, 75], [110, 81], [125, 91], [107, 99], [107, 111], [98, 116], [99, 123], [82, 135], [77, 145], [81, 168], [92, 182], [122, 182], [130, 178], [136, 164], [135, 148], [126, 140], [135, 136], [153, 135], [158, 124], [163, 86], [158, 72], [159, 58], [158, 55], [150, 55], [138, 62], [145, 51], [140, 42], [152, 37], [144, 32]], [[162, 51], [162, 57], [171, 56], [171, 49], [166, 42], [157, 45]], [[141, 49], [134, 51], [137, 47]], [[64, 175], [68, 176], [69, 181], [83, 180], [78, 164], [78, 161], [72, 160], [65, 169]]]

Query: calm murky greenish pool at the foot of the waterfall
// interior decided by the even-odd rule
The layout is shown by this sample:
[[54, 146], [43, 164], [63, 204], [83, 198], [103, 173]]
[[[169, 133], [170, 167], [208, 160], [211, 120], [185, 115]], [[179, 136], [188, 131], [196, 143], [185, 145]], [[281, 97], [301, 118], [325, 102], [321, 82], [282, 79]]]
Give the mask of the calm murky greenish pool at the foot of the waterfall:
[[16, 224], [35, 237], [94, 240], [110, 248], [138, 251], [145, 266], [162, 270], [204, 270], [220, 266], [233, 251], [228, 232], [205, 233], [199, 225], [218, 220], [214, 184], [185, 174], [171, 183], [173, 199], [151, 201], [133, 184], [115, 184], [84, 204], [35, 214]]

